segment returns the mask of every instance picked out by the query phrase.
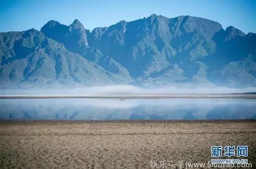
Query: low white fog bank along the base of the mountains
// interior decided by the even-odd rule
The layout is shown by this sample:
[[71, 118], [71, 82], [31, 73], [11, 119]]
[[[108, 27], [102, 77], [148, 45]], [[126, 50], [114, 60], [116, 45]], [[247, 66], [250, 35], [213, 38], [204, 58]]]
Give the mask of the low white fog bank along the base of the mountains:
[[15, 89], [0, 90], [1, 95], [93, 95], [93, 94], [230, 94], [255, 92], [255, 87], [250, 88], [227, 88], [227, 87], [196, 87], [180, 84], [180, 86], [138, 87], [132, 85], [110, 85], [76, 88], [59, 87], [55, 89]]

